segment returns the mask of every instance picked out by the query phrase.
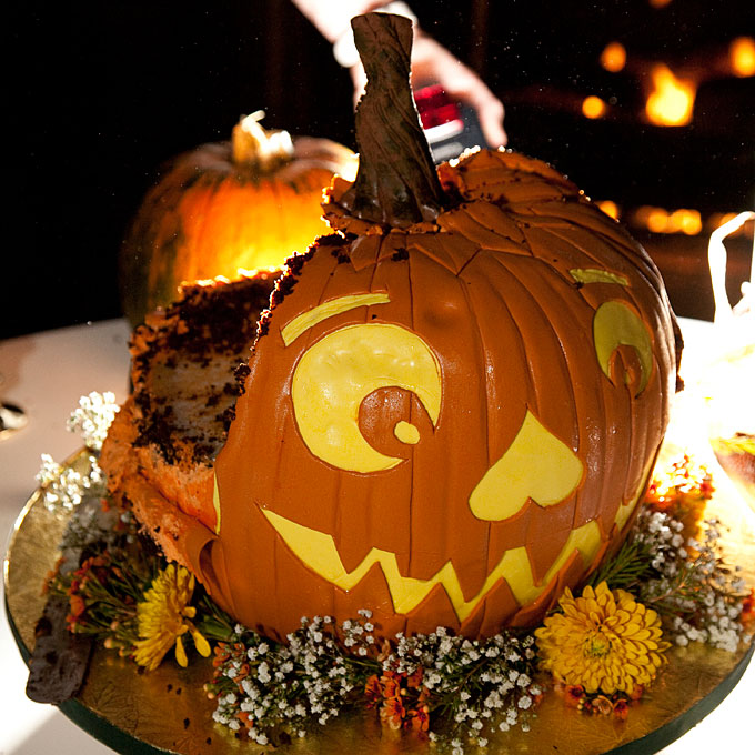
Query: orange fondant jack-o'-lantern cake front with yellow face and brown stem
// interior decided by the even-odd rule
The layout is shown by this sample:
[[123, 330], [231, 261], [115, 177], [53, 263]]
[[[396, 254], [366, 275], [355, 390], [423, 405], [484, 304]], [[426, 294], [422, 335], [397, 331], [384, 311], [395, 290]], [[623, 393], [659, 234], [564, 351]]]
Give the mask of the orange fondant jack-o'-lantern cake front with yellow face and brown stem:
[[273, 294], [189, 561], [278, 637], [360, 608], [384, 634], [533, 624], [627, 530], [673, 313], [642, 248], [544, 163], [480, 151], [439, 183], [411, 27], [354, 29], [360, 173], [330, 193], [340, 232]]

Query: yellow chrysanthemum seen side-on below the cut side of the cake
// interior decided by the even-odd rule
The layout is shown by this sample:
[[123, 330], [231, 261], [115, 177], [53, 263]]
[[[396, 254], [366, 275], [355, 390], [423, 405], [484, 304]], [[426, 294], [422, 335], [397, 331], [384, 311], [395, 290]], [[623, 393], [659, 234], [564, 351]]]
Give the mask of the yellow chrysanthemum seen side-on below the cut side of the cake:
[[144, 593], [144, 600], [137, 604], [139, 636], [134, 643], [134, 661], [152, 671], [160, 665], [165, 653], [175, 643], [175, 660], [181, 666], [188, 664], [181, 635], [189, 632], [194, 647], [204, 657], [210, 655], [210, 644], [191, 620], [197, 608], [189, 605], [194, 592], [194, 575], [183, 566], [169, 564], [153, 580]]

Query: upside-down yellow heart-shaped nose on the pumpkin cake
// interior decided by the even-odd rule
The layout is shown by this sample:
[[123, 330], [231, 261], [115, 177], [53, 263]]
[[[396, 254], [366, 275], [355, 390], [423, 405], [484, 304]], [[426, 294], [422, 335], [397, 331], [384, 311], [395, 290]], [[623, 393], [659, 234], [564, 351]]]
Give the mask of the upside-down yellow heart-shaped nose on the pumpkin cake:
[[527, 411], [512, 444], [472, 491], [470, 509], [482, 520], [509, 519], [528, 499], [540, 506], [560, 503], [581, 480], [577, 455]]

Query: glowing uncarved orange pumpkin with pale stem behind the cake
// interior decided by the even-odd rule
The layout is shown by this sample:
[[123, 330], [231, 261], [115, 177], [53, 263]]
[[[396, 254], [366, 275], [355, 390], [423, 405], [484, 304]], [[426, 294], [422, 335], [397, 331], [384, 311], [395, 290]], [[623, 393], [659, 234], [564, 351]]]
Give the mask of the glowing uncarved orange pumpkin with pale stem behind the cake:
[[183, 281], [281, 265], [326, 231], [322, 190], [353, 175], [355, 155], [325, 139], [265, 131], [242, 119], [231, 142], [175, 158], [148, 192], [121, 250], [123, 310], [139, 324], [178, 299]]

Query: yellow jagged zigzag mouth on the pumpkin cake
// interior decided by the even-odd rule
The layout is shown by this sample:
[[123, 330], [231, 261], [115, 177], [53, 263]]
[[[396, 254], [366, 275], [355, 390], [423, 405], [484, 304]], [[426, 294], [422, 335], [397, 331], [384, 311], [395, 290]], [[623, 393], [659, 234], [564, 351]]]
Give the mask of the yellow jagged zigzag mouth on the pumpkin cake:
[[397, 614], [413, 611], [427, 597], [433, 587], [440, 584], [445, 590], [460, 622], [472, 615], [501, 578], [506, 581], [520, 605], [531, 604], [546, 590], [575, 551], [582, 555], [585, 566], [588, 566], [597, 555], [602, 542], [601, 530], [595, 521], [572, 530], [566, 544], [540, 585], [534, 583], [526, 548], [520, 546], [505, 551], [480, 592], [467, 601], [464, 598], [451, 561], [447, 561], [431, 578], [417, 580], [400, 573], [395, 553], [373, 547], [355, 568], [348, 572], [331, 535], [296, 524], [265, 509], [262, 513], [293, 554], [305, 566], [336, 587], [349, 592], [364, 578], [374, 564], [380, 564]]

